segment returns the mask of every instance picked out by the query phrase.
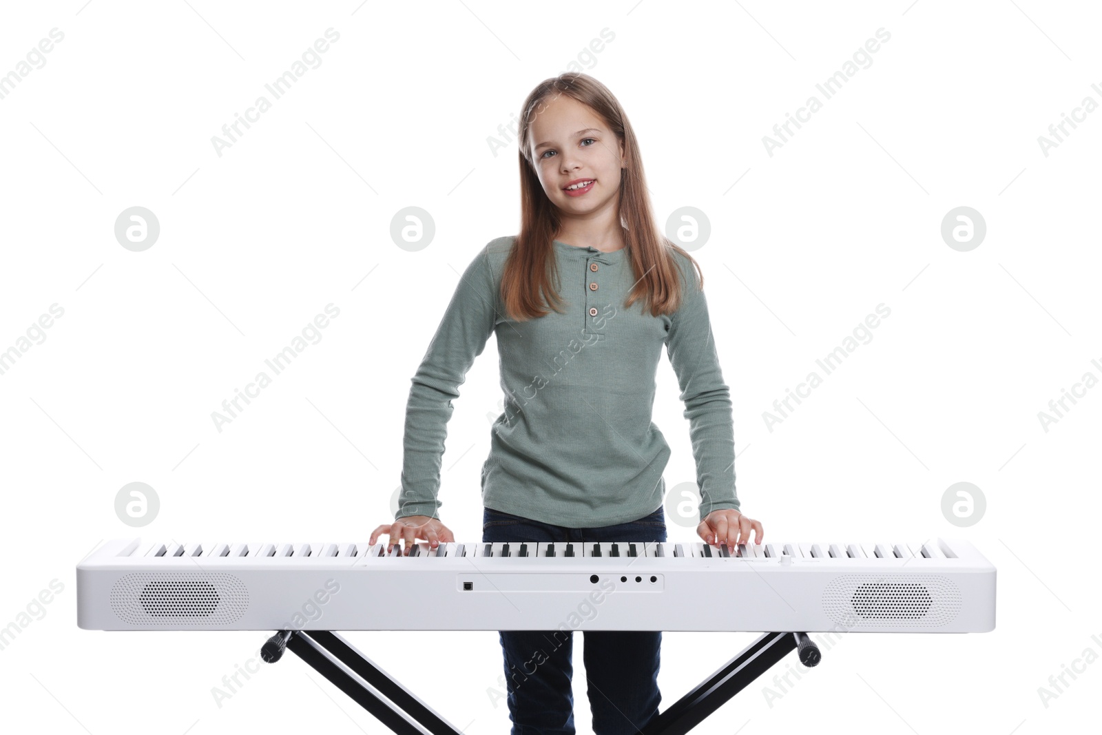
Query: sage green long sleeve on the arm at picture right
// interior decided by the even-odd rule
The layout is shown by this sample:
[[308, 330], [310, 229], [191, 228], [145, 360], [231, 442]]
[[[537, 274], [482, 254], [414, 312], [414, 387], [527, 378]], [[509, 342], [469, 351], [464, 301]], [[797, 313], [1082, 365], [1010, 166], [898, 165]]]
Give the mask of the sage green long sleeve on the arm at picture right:
[[666, 338], [670, 365], [677, 374], [689, 420], [689, 437], [696, 463], [700, 518], [713, 510], [738, 509], [735, 494], [735, 440], [731, 390], [723, 382], [712, 337], [707, 301], [696, 270], [682, 262], [682, 303], [672, 315]]

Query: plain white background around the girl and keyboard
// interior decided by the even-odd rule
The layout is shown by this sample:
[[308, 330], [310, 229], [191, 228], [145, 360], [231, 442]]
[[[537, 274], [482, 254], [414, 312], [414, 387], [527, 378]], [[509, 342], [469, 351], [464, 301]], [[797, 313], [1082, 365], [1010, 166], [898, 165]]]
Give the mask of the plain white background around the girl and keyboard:
[[[955, 536], [998, 569], [993, 633], [852, 634], [771, 706], [763, 679], [694, 732], [1096, 726], [1102, 663], [1047, 707], [1038, 688], [1102, 653], [1102, 388], [1047, 432], [1038, 412], [1102, 377], [1102, 111], [1047, 156], [1038, 137], [1102, 102], [1100, 21], [1093, 3], [1036, 0], [4, 3], [0, 74], [64, 33], [0, 99], [0, 349], [64, 309], [0, 375], [0, 626], [30, 620], [0, 650], [4, 729], [382, 732], [294, 656], [218, 706], [212, 689], [268, 634], [80, 630], [75, 566], [107, 538], [364, 541], [391, 520], [410, 377], [458, 273], [519, 225], [499, 127], [572, 63], [627, 110], [660, 225], [683, 206], [707, 217], [692, 255], [734, 400], [738, 496], [766, 540]], [[219, 156], [212, 137], [271, 100], [263, 85], [328, 28], [321, 65]], [[879, 28], [872, 65], [825, 99], [815, 85]], [[602, 29], [615, 37], [585, 52]], [[763, 137], [811, 95], [822, 109], [770, 156]], [[115, 238], [131, 206], [160, 221], [142, 252]], [[407, 206], [435, 223], [415, 252], [390, 236]], [[940, 235], [958, 206], [987, 227], [966, 252]], [[219, 432], [212, 412], [328, 303], [341, 313], [321, 342]], [[770, 431], [763, 412], [880, 303], [872, 341]], [[501, 410], [493, 339], [461, 390], [441, 517], [471, 541]], [[670, 488], [695, 476], [682, 410], [663, 358]], [[161, 501], [141, 529], [115, 512], [130, 482]], [[957, 482], [986, 497], [969, 528], [942, 516]], [[699, 539], [671, 522], [670, 540]], [[55, 579], [44, 615], [21, 618]], [[411, 586], [378, 604], [439, 602]], [[692, 615], [710, 591], [677, 604]], [[667, 633], [661, 709], [755, 637]], [[508, 732], [487, 695], [496, 631], [347, 638], [457, 727]]]

